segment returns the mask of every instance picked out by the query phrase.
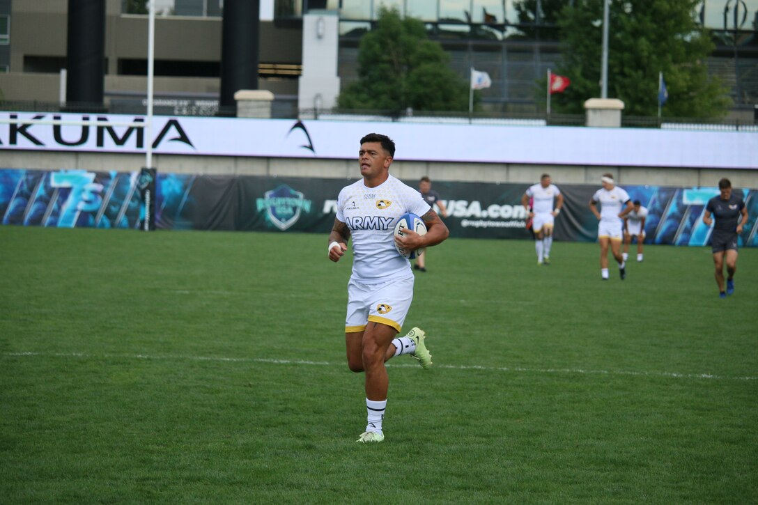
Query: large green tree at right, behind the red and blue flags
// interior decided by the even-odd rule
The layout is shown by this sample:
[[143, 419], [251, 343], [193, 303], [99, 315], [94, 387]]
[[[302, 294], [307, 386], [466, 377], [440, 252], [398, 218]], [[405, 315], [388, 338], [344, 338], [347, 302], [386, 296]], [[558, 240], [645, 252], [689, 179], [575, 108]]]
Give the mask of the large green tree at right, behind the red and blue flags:
[[[625, 114], [657, 114], [661, 71], [669, 92], [663, 115], [716, 118], [726, 113], [727, 90], [707, 73], [713, 42], [697, 23], [698, 3], [610, 0], [608, 96], [625, 103]], [[571, 79], [571, 86], [553, 95], [557, 111], [582, 113], [586, 99], [600, 96], [602, 20], [601, 0], [575, 0], [561, 11], [562, 64], [555, 72]]]

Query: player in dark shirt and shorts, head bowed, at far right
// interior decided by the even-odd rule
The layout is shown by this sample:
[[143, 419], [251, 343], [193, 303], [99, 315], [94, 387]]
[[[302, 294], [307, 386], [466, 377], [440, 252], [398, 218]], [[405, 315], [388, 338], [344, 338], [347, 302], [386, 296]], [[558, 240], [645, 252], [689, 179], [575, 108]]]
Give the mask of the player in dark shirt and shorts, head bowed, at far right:
[[[713, 247], [713, 265], [716, 266], [716, 284], [719, 284], [719, 296], [735, 292], [735, 271], [737, 271], [737, 242], [742, 228], [747, 223], [747, 208], [741, 196], [731, 193], [731, 182], [719, 180], [719, 196], [708, 200], [703, 223], [711, 225], [716, 218], [711, 234]], [[740, 219], [740, 216], [742, 218]], [[726, 263], [726, 289], [724, 289], [724, 263]]]

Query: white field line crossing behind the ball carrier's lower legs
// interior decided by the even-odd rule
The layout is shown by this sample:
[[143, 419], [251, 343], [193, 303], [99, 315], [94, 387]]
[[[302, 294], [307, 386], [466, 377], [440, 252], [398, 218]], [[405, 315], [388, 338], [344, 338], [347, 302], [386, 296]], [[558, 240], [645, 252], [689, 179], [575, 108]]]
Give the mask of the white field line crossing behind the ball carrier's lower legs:
[[[3, 356], [52, 356], [60, 358], [88, 359], [167, 359], [178, 361], [218, 361], [218, 362], [252, 362], [273, 365], [312, 365], [312, 366], [346, 366], [344, 363], [327, 361], [309, 361], [307, 359], [268, 359], [268, 358], [226, 358], [223, 356], [148, 356], [146, 354], [87, 354], [87, 353], [2, 353]], [[413, 364], [387, 363], [390, 368], [417, 368]], [[479, 366], [479, 365], [435, 365], [436, 369], [449, 370], [484, 370], [490, 372], [525, 372], [536, 374], [579, 374], [579, 375], [632, 375], [637, 377], [665, 377], [684, 379], [710, 379], [720, 381], [758, 381], [758, 377], [733, 377], [714, 374], [681, 374], [677, 372], [634, 372], [631, 370], [587, 370], [587, 369], [533, 369], [521, 366]]]

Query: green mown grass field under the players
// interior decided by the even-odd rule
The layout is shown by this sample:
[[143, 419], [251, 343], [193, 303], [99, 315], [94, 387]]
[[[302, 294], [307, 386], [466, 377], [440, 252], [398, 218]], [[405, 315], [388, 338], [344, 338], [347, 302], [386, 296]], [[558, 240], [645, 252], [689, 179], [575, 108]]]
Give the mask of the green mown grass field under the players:
[[758, 250], [450, 239], [363, 445], [326, 245], [0, 227], [0, 502], [758, 502]]

